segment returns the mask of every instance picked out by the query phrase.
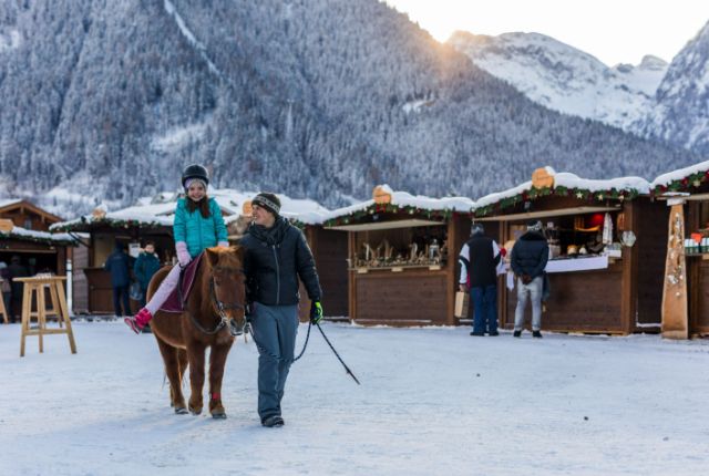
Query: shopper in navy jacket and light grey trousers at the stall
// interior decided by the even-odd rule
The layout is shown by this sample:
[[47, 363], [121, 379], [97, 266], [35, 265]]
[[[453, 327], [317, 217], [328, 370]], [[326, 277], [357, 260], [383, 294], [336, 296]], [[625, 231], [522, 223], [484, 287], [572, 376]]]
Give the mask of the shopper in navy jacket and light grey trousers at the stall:
[[514, 311], [514, 337], [522, 337], [524, 308], [527, 298], [532, 300], [532, 335], [542, 337], [542, 291], [544, 269], [549, 258], [549, 246], [542, 235], [542, 223], [527, 224], [527, 232], [522, 235], [512, 248], [510, 266], [517, 277], [517, 308]]

